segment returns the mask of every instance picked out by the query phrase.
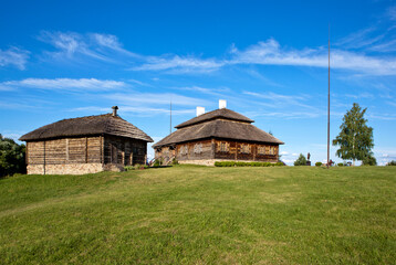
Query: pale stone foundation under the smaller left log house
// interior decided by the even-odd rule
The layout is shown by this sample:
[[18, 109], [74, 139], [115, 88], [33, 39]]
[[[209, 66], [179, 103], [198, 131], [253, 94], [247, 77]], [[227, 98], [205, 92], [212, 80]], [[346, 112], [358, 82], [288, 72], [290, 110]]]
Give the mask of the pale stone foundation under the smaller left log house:
[[28, 174], [86, 174], [104, 170], [121, 171], [118, 167], [105, 168], [102, 163], [29, 165]]

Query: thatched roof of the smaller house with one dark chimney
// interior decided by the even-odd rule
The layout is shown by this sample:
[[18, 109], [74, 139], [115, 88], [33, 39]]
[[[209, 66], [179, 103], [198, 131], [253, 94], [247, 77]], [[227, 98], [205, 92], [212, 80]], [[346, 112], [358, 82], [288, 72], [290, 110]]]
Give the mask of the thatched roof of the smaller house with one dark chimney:
[[25, 134], [20, 140], [29, 141], [102, 134], [153, 142], [153, 139], [143, 130], [112, 114], [63, 119]]

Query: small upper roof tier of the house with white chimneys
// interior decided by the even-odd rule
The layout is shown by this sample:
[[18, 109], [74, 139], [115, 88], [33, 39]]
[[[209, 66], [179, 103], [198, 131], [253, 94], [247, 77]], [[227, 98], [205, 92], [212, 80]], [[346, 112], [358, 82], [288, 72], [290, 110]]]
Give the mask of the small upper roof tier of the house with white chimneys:
[[191, 118], [183, 124], [179, 124], [178, 126], [175, 126], [175, 128], [180, 129], [183, 127], [187, 127], [187, 126], [190, 126], [194, 124], [200, 124], [204, 121], [219, 119], [219, 118], [237, 120], [237, 121], [242, 121], [242, 123], [249, 123], [249, 124], [254, 123], [254, 120], [252, 120], [239, 113], [236, 113], [231, 109], [220, 108], [220, 109], [212, 110], [210, 113], [199, 115], [198, 117]]

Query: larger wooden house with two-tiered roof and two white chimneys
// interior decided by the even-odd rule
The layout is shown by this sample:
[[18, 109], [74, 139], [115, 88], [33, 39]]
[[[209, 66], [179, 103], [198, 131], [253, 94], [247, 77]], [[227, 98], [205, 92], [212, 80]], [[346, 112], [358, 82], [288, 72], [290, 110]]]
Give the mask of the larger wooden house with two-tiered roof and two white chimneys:
[[227, 108], [219, 100], [219, 109], [205, 113], [197, 107], [197, 117], [175, 128], [153, 148], [155, 159], [169, 163], [213, 166], [216, 161], [279, 161], [279, 146], [283, 141], [252, 125], [254, 120]]

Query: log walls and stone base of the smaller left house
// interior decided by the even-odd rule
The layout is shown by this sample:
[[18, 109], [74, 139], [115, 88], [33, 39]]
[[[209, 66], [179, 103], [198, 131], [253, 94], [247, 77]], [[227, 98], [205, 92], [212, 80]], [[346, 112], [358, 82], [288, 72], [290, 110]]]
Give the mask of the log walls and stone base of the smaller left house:
[[27, 142], [29, 174], [82, 174], [121, 171], [145, 163], [147, 144], [124, 137], [95, 136]]

